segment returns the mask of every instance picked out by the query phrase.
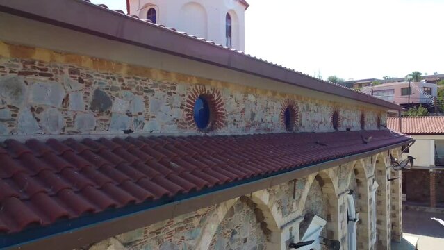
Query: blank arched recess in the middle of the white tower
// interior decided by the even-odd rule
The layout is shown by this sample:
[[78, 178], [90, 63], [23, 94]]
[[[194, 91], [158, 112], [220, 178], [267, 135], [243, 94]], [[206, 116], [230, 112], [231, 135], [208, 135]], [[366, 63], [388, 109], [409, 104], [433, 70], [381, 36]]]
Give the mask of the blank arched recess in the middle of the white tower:
[[208, 15], [204, 6], [196, 2], [186, 3], [179, 12], [178, 29], [199, 38], [208, 38]]

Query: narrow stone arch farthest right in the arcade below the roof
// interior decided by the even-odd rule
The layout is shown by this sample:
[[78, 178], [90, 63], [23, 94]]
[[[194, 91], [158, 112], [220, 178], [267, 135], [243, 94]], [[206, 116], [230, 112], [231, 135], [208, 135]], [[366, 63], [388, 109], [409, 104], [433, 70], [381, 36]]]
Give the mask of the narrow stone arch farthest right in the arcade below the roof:
[[390, 182], [388, 178], [386, 152], [379, 153], [375, 157], [375, 177], [377, 181], [376, 197], [376, 248], [386, 249], [390, 244]]

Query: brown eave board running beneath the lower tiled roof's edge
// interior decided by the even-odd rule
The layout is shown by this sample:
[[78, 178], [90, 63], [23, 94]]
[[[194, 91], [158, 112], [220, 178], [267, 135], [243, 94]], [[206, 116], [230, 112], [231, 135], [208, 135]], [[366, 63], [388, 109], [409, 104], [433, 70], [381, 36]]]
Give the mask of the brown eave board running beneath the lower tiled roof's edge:
[[[265, 178], [259, 178], [258, 180], [240, 181], [242, 183], [231, 183], [225, 187], [216, 190], [215, 192], [203, 192], [203, 194], [197, 193], [193, 196], [184, 195], [182, 199], [176, 199], [170, 203], [162, 206], [156, 206], [147, 210], [141, 210], [134, 213], [122, 215], [120, 217], [113, 217], [103, 222], [97, 222], [81, 228], [66, 228], [65, 231], [54, 233], [53, 235], [46, 235], [42, 238], [34, 238], [26, 242], [10, 245], [11, 249], [20, 250], [32, 250], [32, 249], [51, 249], [54, 246], [63, 246], [63, 249], [75, 249], [77, 247], [83, 247], [91, 242], [99, 242], [106, 238], [133, 231], [138, 228], [142, 228], [149, 224], [161, 222], [165, 219], [171, 219], [178, 215], [191, 213], [199, 208], [205, 208], [229, 199], [240, 197], [243, 194], [249, 194], [265, 188], [270, 188], [279, 183], [285, 183], [295, 180], [296, 178], [303, 178], [309, 174], [320, 172], [330, 167], [343, 165], [345, 163], [359, 160], [361, 158], [374, 156], [377, 153], [388, 151], [401, 147], [405, 144], [414, 142], [413, 138], [397, 144], [391, 144], [386, 147], [374, 149], [364, 153], [354, 154], [352, 156], [345, 156], [343, 158], [336, 158], [334, 160], [325, 161], [315, 165], [310, 165], [298, 169], [286, 170], [277, 174]], [[236, 185], [235, 185], [236, 184]], [[39, 228], [34, 228], [38, 230]], [[35, 235], [32, 228], [24, 232], [24, 234]], [[23, 239], [22, 233], [17, 233], [20, 239]], [[10, 235], [3, 235], [4, 237], [10, 237]], [[35, 236], [34, 236], [35, 237]], [[1, 237], [0, 237], [1, 239]], [[8, 248], [9, 248], [8, 247]]]

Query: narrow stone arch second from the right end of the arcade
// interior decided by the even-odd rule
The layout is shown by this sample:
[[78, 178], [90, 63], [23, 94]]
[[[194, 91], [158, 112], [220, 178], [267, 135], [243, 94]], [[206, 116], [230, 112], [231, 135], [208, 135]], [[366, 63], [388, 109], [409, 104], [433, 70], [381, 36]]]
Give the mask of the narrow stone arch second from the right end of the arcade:
[[361, 160], [354, 163], [350, 172], [349, 189], [354, 190], [355, 208], [359, 218], [359, 222], [356, 224], [356, 249], [368, 249], [370, 246], [371, 215], [369, 181], [365, 163]]

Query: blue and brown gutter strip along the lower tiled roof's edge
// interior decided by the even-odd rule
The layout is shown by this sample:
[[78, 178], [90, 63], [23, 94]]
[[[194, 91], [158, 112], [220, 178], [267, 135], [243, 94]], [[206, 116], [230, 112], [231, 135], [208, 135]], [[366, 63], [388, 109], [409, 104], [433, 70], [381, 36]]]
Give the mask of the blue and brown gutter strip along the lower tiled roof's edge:
[[[202, 190], [201, 192], [182, 194], [172, 199], [157, 201], [154, 203], [154, 206], [153, 203], [142, 203], [139, 206], [106, 210], [103, 213], [85, 215], [79, 219], [61, 221], [55, 226], [29, 228], [21, 233], [1, 235], [0, 248], [33, 250], [54, 249], [54, 246], [58, 246], [57, 249], [83, 247], [92, 242], [99, 242], [121, 233], [133, 231], [165, 219], [190, 213], [199, 208], [222, 203], [223, 201], [240, 197], [243, 194], [270, 188], [274, 185], [293, 181], [296, 178], [303, 178], [309, 174], [320, 172], [330, 167], [373, 156], [376, 153], [401, 147], [413, 141], [413, 139], [410, 139], [379, 149], [328, 160], [315, 165], [299, 167], [293, 170], [284, 170], [268, 176], [249, 178], [245, 181], [237, 181]], [[87, 224], [79, 226], [80, 224], [78, 222], [80, 219], [83, 219]]]

